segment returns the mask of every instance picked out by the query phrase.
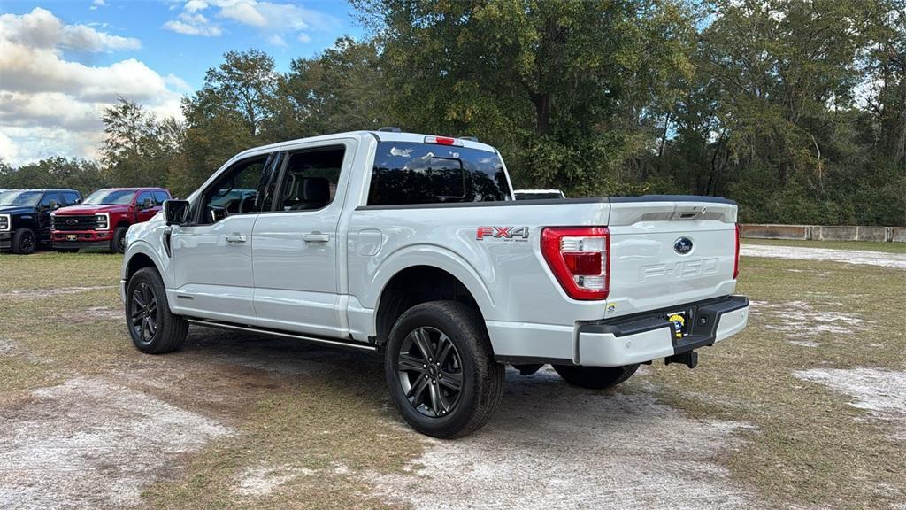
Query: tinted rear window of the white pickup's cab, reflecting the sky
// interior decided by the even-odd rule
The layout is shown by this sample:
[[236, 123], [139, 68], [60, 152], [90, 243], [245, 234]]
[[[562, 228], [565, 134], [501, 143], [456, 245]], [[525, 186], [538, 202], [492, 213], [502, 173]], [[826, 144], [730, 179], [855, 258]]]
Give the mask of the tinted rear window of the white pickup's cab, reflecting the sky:
[[368, 205], [506, 201], [509, 187], [495, 152], [416, 142], [381, 142]]

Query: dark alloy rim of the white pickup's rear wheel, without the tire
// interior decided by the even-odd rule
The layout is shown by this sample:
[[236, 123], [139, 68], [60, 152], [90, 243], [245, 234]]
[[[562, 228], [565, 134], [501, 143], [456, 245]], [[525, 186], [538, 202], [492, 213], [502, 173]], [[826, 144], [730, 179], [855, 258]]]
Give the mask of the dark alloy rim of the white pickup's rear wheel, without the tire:
[[397, 368], [403, 394], [419, 413], [444, 417], [455, 410], [462, 394], [462, 358], [442, 331], [413, 329], [400, 344]]

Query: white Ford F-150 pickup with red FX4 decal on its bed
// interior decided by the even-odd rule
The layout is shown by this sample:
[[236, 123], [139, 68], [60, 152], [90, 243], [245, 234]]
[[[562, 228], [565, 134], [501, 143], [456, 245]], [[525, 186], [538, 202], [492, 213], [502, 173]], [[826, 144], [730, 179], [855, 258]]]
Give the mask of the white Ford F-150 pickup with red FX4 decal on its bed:
[[242, 152], [127, 234], [147, 353], [198, 325], [380, 353], [412, 427], [487, 422], [507, 364], [609, 387], [695, 367], [746, 326], [737, 206], [692, 196], [514, 201], [493, 147], [382, 129]]

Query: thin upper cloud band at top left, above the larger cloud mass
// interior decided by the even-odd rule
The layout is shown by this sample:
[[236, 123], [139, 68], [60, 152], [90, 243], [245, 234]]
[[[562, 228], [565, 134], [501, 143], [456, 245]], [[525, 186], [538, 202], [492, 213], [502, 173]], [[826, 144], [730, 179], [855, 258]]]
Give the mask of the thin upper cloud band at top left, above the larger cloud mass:
[[5, 42], [44, 49], [111, 52], [141, 47], [141, 42], [132, 37], [98, 32], [88, 25], [63, 25], [41, 7], [25, 15], [0, 15], [0, 34]]

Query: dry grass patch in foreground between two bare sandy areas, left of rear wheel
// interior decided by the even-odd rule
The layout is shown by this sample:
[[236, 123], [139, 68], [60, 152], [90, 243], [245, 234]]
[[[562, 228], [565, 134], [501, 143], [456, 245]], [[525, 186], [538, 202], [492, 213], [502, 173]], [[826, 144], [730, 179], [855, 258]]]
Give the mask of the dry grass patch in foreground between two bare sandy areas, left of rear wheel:
[[[376, 369], [306, 377], [259, 400], [236, 436], [196, 456], [181, 478], [151, 487], [157, 508], [396, 508], [371, 495], [368, 475], [398, 472], [424, 440], [380, 405]], [[236, 487], [247, 468], [294, 477], [260, 496]]]

